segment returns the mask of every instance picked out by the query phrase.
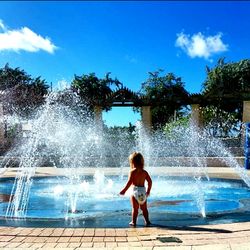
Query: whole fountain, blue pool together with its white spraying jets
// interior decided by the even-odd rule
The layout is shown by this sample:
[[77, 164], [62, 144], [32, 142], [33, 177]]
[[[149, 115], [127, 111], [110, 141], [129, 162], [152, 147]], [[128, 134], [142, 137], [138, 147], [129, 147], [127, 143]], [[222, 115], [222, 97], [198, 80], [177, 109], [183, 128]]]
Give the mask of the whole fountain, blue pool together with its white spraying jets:
[[[140, 124], [135, 134], [100, 133], [88, 116], [56, 102], [52, 95], [30, 120], [31, 131], [2, 160], [1, 171], [9, 169], [15, 156], [15, 179], [2, 179], [5, 198], [0, 216], [4, 225], [66, 227], [122, 227], [130, 217], [128, 197], [118, 193], [127, 180], [127, 156], [140, 151], [150, 166], [153, 190], [149, 211], [153, 222], [204, 224], [249, 220], [247, 172], [216, 138], [196, 128], [179, 128], [174, 137], [161, 132], [148, 135]], [[13, 122], [13, 117], [8, 118]], [[182, 173], [181, 160], [191, 169]], [[218, 181], [207, 174], [207, 157], [218, 157], [235, 170], [242, 181]], [[181, 157], [181, 158], [180, 158]], [[158, 174], [171, 159], [179, 177]], [[13, 164], [13, 163], [12, 163]], [[63, 177], [35, 178], [41, 166], [52, 165]], [[106, 174], [105, 167], [118, 169]], [[92, 167], [94, 175], [81, 174]]]

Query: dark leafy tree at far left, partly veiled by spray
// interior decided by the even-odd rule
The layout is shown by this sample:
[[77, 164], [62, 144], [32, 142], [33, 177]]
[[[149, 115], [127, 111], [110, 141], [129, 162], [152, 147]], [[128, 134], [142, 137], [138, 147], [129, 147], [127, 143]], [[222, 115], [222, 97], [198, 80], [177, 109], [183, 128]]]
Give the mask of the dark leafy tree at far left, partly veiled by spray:
[[30, 115], [35, 108], [43, 104], [48, 88], [41, 77], [32, 78], [19, 68], [11, 68], [6, 64], [0, 69], [0, 101], [9, 113]]

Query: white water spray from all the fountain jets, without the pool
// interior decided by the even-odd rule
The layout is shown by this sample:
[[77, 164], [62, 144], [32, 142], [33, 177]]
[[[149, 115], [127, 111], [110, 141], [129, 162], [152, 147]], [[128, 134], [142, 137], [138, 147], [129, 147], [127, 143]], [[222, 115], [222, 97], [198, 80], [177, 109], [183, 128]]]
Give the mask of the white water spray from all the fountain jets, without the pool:
[[[250, 179], [246, 171], [238, 164], [233, 155], [224, 147], [219, 139], [211, 138], [206, 130], [197, 127], [178, 127], [169, 134], [162, 131], [148, 133], [141, 123], [136, 124], [135, 132], [118, 135], [100, 133], [94, 121], [82, 109], [79, 99], [72, 95], [73, 105], [62, 104], [59, 93], [51, 93], [46, 103], [38, 110], [36, 115], [28, 121], [31, 131], [26, 138], [20, 141], [7, 152], [1, 167], [9, 165], [10, 156], [19, 159], [18, 172], [12, 188], [13, 200], [9, 202], [6, 217], [25, 218], [27, 214], [32, 177], [39, 166], [52, 166], [64, 169], [63, 175], [67, 179], [68, 188], [56, 186], [54, 195], [66, 195], [65, 218], [78, 210], [79, 200], [87, 194], [111, 195], [115, 183], [106, 178], [103, 167], [118, 167], [121, 169], [121, 180], [127, 175], [128, 155], [133, 151], [141, 152], [145, 157], [145, 167], [152, 174], [154, 169], [169, 166], [182, 172], [183, 159], [185, 166], [193, 170], [192, 181], [187, 185], [192, 187], [192, 196], [199, 208], [202, 217], [206, 216], [205, 192], [202, 181], [209, 182], [207, 174], [208, 156], [223, 156], [228, 166], [235, 169], [243, 181], [250, 187]], [[9, 125], [20, 122], [19, 117], [5, 117]], [[170, 161], [169, 161], [170, 160]], [[89, 180], [81, 174], [84, 167], [96, 169], [93, 187]], [[167, 188], [166, 188], [167, 190]], [[111, 193], [110, 193], [111, 192]], [[170, 191], [171, 192], [171, 191]]]

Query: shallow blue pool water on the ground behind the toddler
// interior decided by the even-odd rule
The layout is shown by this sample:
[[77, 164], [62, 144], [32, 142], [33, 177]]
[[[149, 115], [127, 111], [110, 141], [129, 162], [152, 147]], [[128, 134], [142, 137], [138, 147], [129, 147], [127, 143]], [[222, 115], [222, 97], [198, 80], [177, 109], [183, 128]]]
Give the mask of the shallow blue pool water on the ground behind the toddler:
[[[241, 181], [153, 177], [148, 198], [152, 222], [159, 225], [211, 224], [249, 220], [250, 190]], [[25, 218], [6, 217], [14, 179], [0, 180], [0, 224], [20, 226], [120, 227], [130, 220], [131, 190], [119, 191], [127, 177], [33, 178]], [[1, 198], [2, 197], [2, 198]], [[141, 216], [139, 224], [143, 224]]]

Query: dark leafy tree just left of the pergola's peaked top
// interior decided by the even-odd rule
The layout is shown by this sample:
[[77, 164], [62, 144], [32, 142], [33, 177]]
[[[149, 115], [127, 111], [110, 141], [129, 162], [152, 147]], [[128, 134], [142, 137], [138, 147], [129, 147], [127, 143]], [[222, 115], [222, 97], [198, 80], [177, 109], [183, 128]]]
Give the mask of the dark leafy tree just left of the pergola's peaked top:
[[88, 75], [74, 76], [72, 89], [83, 99], [89, 110], [94, 110], [95, 105], [100, 105], [104, 110], [110, 110], [108, 96], [113, 88], [120, 88], [122, 83], [112, 79], [107, 73], [103, 79], [98, 78], [95, 73]]

